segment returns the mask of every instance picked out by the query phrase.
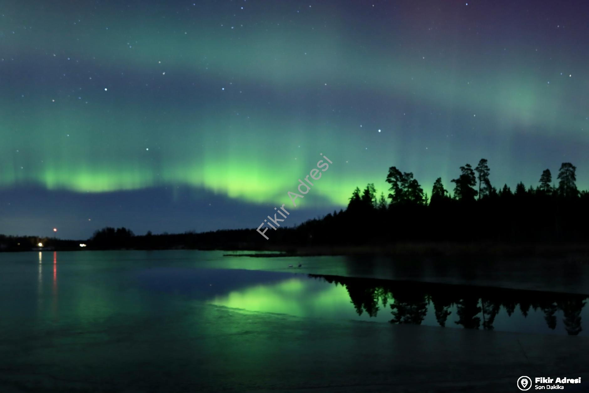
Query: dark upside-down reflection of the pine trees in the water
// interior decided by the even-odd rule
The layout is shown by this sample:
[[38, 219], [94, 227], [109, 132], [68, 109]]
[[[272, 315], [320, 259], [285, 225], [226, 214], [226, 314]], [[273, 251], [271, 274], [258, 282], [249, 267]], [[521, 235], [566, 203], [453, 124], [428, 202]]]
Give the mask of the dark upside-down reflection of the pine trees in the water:
[[485, 330], [492, 330], [495, 317], [501, 307], [504, 307], [508, 316], [511, 316], [517, 308], [524, 317], [528, 316], [530, 309], [542, 310], [548, 327], [555, 329], [557, 325], [555, 313], [562, 310], [565, 330], [569, 335], [578, 335], [582, 330], [581, 311], [587, 302], [587, 296], [578, 294], [356, 279], [315, 274], [310, 276], [345, 286], [358, 315], [366, 312], [374, 317], [378, 315], [380, 304], [386, 307], [386, 304], [390, 302], [391, 323], [421, 325], [428, 312], [429, 304], [433, 304], [436, 320], [442, 327], [446, 326], [448, 316], [452, 313], [451, 308], [456, 307], [458, 317], [455, 321], [456, 325], [466, 329], [479, 329], [482, 326]]

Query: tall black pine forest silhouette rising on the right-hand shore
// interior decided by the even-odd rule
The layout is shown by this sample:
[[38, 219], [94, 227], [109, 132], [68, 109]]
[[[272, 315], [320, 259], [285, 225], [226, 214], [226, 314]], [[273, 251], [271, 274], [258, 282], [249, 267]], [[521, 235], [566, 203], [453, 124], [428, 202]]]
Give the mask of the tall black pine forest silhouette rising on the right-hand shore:
[[306, 243], [389, 244], [398, 241], [497, 241], [502, 243], [585, 243], [589, 235], [589, 192], [579, 191], [576, 167], [562, 163], [558, 185], [545, 169], [537, 186], [519, 182], [495, 188], [481, 159], [452, 179], [451, 194], [436, 179], [423, 192], [411, 172], [389, 168], [388, 197], [373, 184], [356, 188], [344, 212], [310, 220], [297, 228]]

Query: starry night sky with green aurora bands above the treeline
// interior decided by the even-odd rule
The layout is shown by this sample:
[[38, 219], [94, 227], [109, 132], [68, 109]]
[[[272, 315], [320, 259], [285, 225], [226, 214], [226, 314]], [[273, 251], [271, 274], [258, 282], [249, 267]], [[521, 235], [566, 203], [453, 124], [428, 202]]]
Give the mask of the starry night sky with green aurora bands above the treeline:
[[589, 188], [587, 2], [193, 1], [3, 2], [0, 233], [255, 228], [319, 153], [290, 225], [389, 166]]

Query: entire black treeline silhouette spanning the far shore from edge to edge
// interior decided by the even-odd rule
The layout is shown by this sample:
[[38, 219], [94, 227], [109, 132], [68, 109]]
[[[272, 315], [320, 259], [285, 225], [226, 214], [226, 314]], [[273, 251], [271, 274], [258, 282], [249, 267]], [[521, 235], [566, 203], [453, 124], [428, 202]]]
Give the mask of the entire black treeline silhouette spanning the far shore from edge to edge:
[[84, 241], [0, 235], [0, 251], [193, 248], [200, 250], [259, 250], [283, 246], [389, 245], [406, 242], [563, 244], [585, 243], [589, 236], [589, 192], [579, 191], [576, 167], [562, 163], [558, 184], [549, 169], [538, 184], [519, 182], [512, 191], [491, 185], [486, 159], [475, 168], [460, 167], [449, 192], [441, 178], [431, 194], [423, 192], [411, 172], [389, 168], [389, 193], [376, 193], [373, 184], [352, 192], [348, 207], [296, 228], [277, 228], [266, 240], [253, 229], [135, 235], [127, 228], [103, 228]]

